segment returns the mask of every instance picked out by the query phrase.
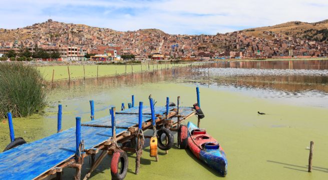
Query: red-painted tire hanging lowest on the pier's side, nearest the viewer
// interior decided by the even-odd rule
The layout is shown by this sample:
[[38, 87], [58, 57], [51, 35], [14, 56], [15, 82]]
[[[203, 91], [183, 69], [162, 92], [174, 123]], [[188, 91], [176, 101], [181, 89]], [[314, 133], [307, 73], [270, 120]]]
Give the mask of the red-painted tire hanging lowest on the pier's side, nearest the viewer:
[[[121, 162], [121, 165], [120, 165]], [[114, 152], [111, 161], [112, 179], [122, 180], [128, 172], [128, 155], [123, 150]], [[119, 166], [120, 165], [120, 166]]]

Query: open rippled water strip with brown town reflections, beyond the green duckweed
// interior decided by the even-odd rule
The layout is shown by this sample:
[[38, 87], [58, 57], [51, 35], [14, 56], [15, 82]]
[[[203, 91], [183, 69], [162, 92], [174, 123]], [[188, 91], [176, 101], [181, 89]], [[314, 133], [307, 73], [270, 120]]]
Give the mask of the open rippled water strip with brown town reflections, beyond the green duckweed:
[[328, 97], [327, 63], [328, 60], [214, 62], [199, 67], [58, 81], [53, 86], [55, 93], [69, 93], [71, 98], [80, 98], [85, 93], [103, 93], [104, 89], [123, 89], [144, 83], [197, 83], [260, 98], [297, 98], [298, 101], [312, 101], [314, 106], [328, 106], [323, 101]]

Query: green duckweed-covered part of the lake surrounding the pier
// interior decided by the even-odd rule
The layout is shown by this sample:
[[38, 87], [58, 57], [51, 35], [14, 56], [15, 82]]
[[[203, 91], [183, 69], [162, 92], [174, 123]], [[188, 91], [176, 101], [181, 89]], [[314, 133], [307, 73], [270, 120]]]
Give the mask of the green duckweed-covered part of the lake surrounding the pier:
[[[75, 116], [81, 116], [83, 121], [90, 119], [90, 99], [95, 100], [96, 118], [107, 115], [111, 105], [119, 107], [121, 102], [130, 102], [131, 94], [135, 95], [136, 102], [144, 101], [145, 104], [152, 94], [158, 101], [156, 105], [164, 105], [166, 96], [176, 101], [180, 95], [182, 105], [191, 106], [196, 101], [195, 86], [201, 85], [203, 80], [195, 80], [198, 76], [188, 80], [186, 77], [190, 74], [180, 72], [182, 76], [177, 76], [173, 75], [173, 70], [169, 72], [59, 83], [59, 87], [49, 93], [51, 104], [45, 114], [14, 119], [15, 134], [33, 141], [56, 133], [58, 103], [63, 104], [63, 129], [75, 126]], [[327, 107], [287, 103], [283, 98], [272, 100], [231, 90], [233, 86], [220, 88], [220, 85], [211, 77], [209, 86], [200, 86], [201, 107], [205, 113], [201, 127], [220, 142], [227, 154], [228, 175], [225, 179], [326, 178]], [[258, 115], [257, 111], [267, 114]], [[196, 123], [197, 118], [190, 120]], [[0, 137], [0, 148], [4, 148], [10, 139], [7, 121], [0, 125]], [[312, 173], [307, 172], [306, 166], [310, 140], [314, 141]], [[149, 157], [148, 145], [145, 144], [138, 175], [134, 174], [135, 154], [128, 153], [126, 179], [221, 178], [195, 159], [188, 149], [174, 147], [168, 154], [159, 150], [159, 162], [156, 162], [155, 158]], [[106, 157], [91, 179], [110, 179], [109, 167], [110, 158]], [[85, 159], [83, 175], [88, 169], [88, 159]], [[66, 168], [64, 172], [65, 179], [72, 178], [75, 169]]]

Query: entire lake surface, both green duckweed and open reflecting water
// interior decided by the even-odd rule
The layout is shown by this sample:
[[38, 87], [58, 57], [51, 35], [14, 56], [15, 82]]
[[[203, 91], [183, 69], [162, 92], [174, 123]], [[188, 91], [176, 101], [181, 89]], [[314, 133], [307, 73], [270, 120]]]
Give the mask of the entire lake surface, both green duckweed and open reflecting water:
[[[234, 61], [134, 73], [117, 77], [58, 81], [49, 90], [49, 107], [42, 115], [15, 118], [15, 134], [33, 141], [57, 130], [57, 105], [63, 104], [63, 129], [75, 126], [75, 116], [90, 119], [89, 100], [95, 100], [96, 118], [121, 102], [147, 104], [149, 94], [164, 105], [166, 96], [184, 106], [196, 102], [200, 86], [205, 118], [201, 127], [216, 138], [228, 158], [225, 179], [324, 179], [328, 172], [326, 126], [328, 125], [326, 60]], [[242, 68], [240, 68], [242, 67]], [[263, 111], [266, 115], [258, 115]], [[197, 118], [190, 118], [196, 122]], [[0, 123], [0, 148], [9, 143], [8, 122]], [[313, 170], [307, 172], [310, 140], [314, 141]], [[135, 154], [129, 153], [126, 179], [217, 179], [216, 172], [176, 147], [159, 162], [149, 157], [145, 144], [140, 174], [135, 175]], [[83, 174], [89, 168], [85, 160]], [[92, 179], [109, 179], [110, 158]], [[75, 170], [65, 169], [71, 178]]]

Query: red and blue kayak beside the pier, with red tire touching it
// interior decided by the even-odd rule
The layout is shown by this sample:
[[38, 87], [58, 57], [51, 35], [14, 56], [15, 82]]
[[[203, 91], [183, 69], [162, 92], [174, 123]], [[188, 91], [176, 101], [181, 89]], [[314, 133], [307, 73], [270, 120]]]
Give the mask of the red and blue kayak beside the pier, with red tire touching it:
[[198, 128], [192, 122], [179, 128], [180, 148], [187, 146], [191, 152], [222, 176], [227, 174], [227, 159], [220, 144], [205, 129]]

